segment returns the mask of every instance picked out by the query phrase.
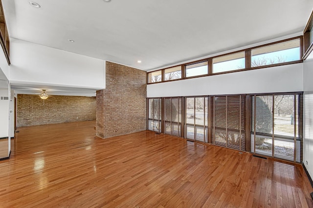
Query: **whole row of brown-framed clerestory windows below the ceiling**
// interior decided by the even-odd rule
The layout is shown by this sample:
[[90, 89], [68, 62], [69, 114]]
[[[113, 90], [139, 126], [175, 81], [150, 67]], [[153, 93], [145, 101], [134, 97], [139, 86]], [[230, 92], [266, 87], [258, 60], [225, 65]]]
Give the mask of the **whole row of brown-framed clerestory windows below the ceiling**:
[[[304, 36], [304, 49], [306, 58], [313, 50], [313, 20], [307, 26]], [[172, 81], [189, 77], [210, 76], [236, 72], [238, 70], [250, 70], [251, 68], [273, 67], [277, 65], [300, 63], [303, 60], [302, 37], [286, 39], [280, 42], [270, 43], [266, 46], [247, 48], [245, 51], [233, 52], [219, 57], [209, 57], [192, 63], [182, 64], [169, 69], [162, 69], [148, 73], [148, 83]], [[311, 47], [310, 47], [311, 44]], [[181, 70], [182, 69], [182, 70]], [[182, 74], [183, 73], [183, 74]], [[164, 76], [164, 77], [162, 77]]]

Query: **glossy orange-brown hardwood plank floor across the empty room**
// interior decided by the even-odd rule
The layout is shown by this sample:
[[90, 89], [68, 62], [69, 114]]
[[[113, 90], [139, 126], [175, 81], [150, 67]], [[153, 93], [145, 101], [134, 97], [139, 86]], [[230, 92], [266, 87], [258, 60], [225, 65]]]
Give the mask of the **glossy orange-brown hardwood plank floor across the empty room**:
[[94, 126], [19, 128], [0, 207], [313, 207], [299, 164], [148, 131], [100, 139]]

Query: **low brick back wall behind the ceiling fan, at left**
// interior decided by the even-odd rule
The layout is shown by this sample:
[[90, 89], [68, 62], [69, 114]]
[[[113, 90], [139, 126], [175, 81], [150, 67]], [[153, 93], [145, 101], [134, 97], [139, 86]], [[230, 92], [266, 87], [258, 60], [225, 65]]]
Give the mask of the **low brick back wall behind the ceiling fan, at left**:
[[95, 97], [18, 95], [17, 126], [95, 120]]

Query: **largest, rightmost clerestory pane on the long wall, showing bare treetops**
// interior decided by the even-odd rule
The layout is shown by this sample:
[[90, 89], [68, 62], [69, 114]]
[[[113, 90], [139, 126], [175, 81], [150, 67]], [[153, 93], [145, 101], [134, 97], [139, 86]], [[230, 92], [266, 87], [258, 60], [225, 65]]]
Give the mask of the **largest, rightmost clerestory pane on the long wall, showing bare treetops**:
[[251, 50], [251, 67], [300, 60], [300, 39]]

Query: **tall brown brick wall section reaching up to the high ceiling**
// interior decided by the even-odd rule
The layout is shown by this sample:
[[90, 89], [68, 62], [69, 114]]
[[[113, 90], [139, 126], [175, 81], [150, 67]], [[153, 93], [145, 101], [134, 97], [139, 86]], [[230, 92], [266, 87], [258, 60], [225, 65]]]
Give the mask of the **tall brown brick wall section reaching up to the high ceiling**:
[[106, 89], [97, 91], [96, 134], [109, 138], [147, 129], [147, 73], [106, 62]]

